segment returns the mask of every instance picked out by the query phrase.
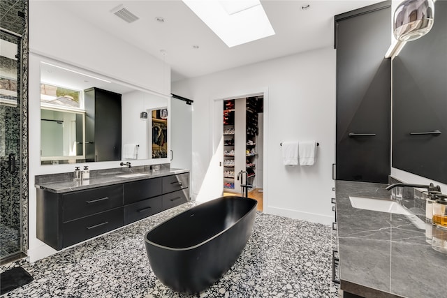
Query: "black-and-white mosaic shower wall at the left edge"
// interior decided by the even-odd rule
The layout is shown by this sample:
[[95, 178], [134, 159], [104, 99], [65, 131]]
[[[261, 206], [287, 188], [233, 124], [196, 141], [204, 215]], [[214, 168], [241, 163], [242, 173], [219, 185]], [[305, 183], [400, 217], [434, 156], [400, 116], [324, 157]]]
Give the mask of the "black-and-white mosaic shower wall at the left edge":
[[[1, 59], [1, 89], [20, 91], [17, 96], [2, 96], [17, 100], [17, 106], [0, 105], [0, 234], [2, 250], [6, 239], [14, 238], [24, 252], [28, 248], [28, 4], [27, 0], [0, 1], [1, 29], [22, 36], [20, 58]], [[1, 38], [17, 43], [14, 34], [3, 30]]]

